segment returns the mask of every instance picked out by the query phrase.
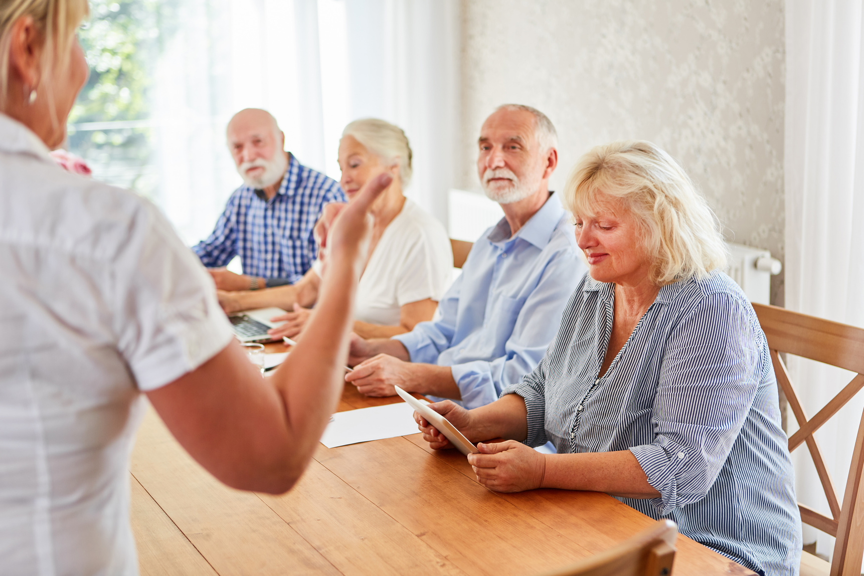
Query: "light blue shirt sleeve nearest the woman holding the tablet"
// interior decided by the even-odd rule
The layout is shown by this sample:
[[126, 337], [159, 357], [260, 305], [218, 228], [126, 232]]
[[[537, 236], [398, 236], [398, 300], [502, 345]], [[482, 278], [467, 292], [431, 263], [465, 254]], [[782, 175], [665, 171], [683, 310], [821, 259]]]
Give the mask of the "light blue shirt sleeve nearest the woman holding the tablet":
[[520, 383], [522, 377], [540, 364], [558, 332], [569, 296], [584, 271], [575, 252], [556, 254], [517, 311], [513, 331], [505, 343], [505, 355], [489, 362], [453, 364], [453, 378], [459, 386], [465, 408], [478, 408], [495, 402], [502, 390]]

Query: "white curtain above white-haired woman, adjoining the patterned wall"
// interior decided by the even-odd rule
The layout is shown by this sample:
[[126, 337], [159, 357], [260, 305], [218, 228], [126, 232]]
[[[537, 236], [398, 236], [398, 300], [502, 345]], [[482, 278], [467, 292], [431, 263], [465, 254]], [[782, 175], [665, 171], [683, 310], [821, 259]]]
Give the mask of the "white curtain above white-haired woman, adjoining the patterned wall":
[[410, 140], [406, 194], [448, 221], [459, 123], [455, 0], [347, 0], [351, 116], [394, 123]]

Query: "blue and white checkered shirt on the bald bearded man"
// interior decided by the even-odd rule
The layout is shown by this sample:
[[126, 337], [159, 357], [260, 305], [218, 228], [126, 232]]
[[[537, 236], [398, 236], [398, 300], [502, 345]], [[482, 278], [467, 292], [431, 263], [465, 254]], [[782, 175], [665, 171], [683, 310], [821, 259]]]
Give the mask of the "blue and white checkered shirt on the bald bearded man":
[[272, 199], [252, 187], [239, 187], [213, 233], [192, 250], [208, 268], [226, 266], [240, 256], [244, 274], [294, 283], [317, 256], [312, 229], [322, 206], [345, 201], [338, 182], [289, 155], [288, 169]]

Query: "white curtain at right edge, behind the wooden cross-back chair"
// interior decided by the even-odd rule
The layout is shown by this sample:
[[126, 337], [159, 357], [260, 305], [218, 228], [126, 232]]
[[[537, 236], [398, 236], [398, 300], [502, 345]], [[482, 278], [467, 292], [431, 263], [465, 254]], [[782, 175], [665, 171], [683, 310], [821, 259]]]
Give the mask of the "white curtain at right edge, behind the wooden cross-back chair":
[[[785, 305], [864, 326], [864, 59], [860, 0], [787, 0], [785, 109]], [[791, 359], [802, 405], [816, 414], [851, 379]], [[864, 401], [816, 434], [838, 497]], [[790, 418], [790, 421], [794, 421]], [[828, 513], [805, 446], [793, 453], [799, 500]], [[806, 529], [831, 554], [834, 539]]]

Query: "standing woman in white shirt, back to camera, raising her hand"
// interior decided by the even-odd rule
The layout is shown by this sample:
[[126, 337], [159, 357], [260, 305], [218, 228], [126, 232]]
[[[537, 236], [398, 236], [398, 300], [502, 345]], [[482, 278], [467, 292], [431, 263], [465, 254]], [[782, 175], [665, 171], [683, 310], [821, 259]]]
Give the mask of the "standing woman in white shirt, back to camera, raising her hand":
[[0, 573], [138, 572], [142, 393], [226, 484], [288, 490], [339, 402], [365, 211], [390, 184], [370, 180], [327, 222], [320, 321], [264, 381], [162, 214], [49, 155], [87, 78], [86, 14], [86, 0], [0, 0]]

